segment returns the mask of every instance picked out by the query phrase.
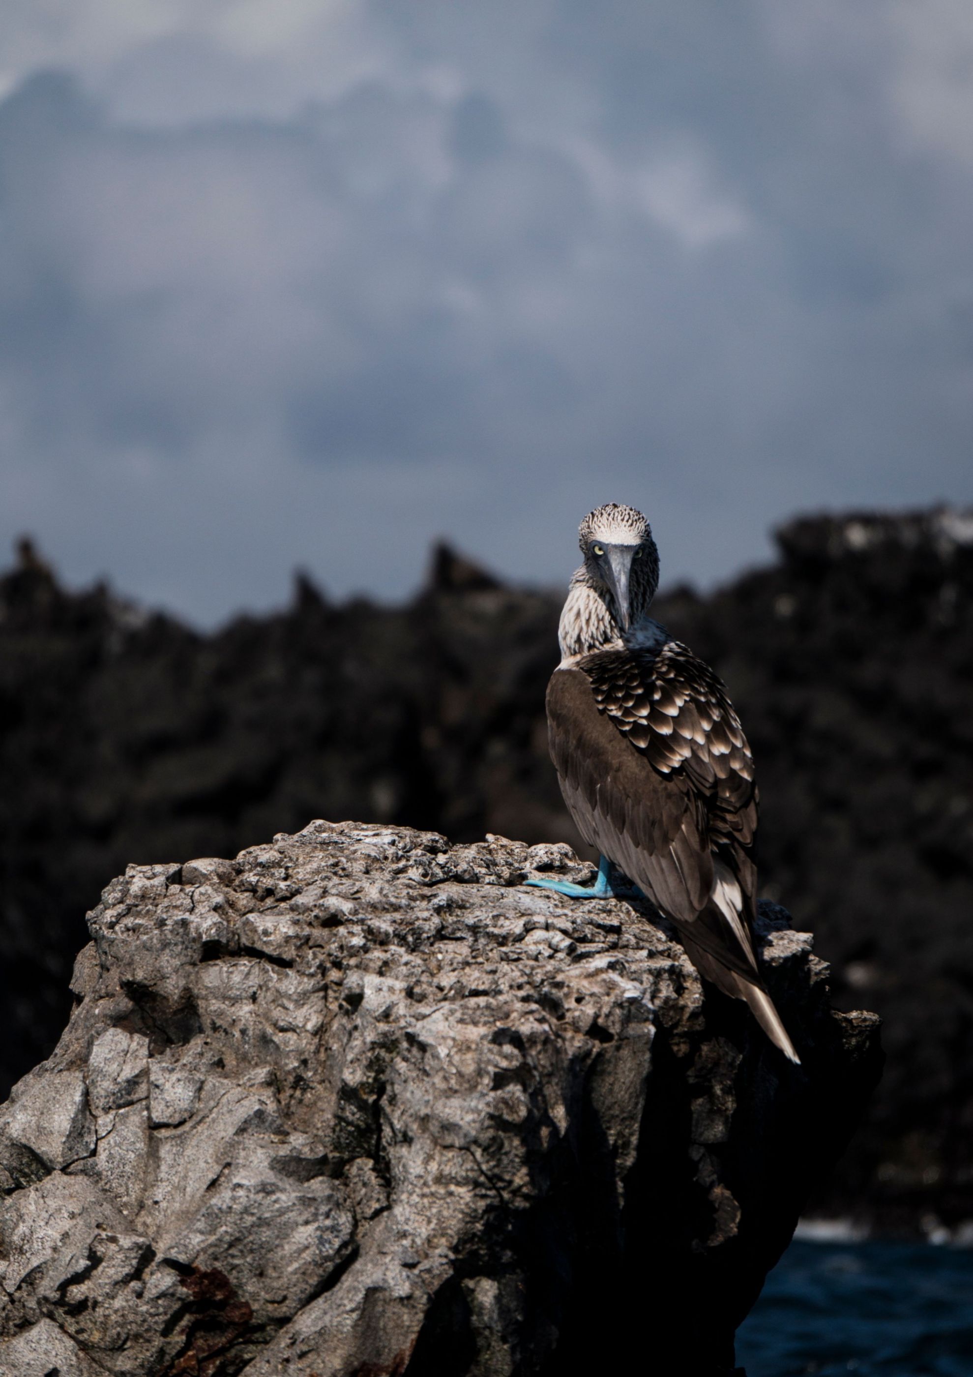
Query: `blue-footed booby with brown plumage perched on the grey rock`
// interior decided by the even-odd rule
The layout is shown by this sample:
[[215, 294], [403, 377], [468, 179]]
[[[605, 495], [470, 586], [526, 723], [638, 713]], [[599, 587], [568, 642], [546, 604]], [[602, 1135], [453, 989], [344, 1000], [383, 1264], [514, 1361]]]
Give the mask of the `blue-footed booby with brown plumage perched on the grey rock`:
[[650, 617], [659, 552], [643, 514], [608, 503], [578, 536], [584, 563], [560, 617], [548, 739], [599, 874], [593, 885], [527, 883], [573, 898], [625, 895], [614, 865], [674, 925], [699, 974], [746, 1000], [800, 1064], [754, 949], [758, 792], [727, 687]]

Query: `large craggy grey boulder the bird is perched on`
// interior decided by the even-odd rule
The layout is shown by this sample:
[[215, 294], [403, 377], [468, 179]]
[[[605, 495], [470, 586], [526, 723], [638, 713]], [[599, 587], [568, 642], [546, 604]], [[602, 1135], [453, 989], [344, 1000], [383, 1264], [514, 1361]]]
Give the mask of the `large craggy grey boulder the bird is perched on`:
[[590, 873], [326, 822], [129, 866], [0, 1108], [0, 1373], [729, 1371], [878, 1020], [764, 906], [791, 1067], [647, 906], [523, 885]]

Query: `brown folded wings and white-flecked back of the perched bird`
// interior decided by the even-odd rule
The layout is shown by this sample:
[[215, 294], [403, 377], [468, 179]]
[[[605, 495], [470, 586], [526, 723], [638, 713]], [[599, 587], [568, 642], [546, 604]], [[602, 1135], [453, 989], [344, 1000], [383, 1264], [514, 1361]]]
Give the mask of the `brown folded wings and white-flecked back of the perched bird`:
[[[582, 836], [694, 942], [754, 979], [753, 761], [716, 675], [684, 646], [586, 655], [548, 687], [550, 755]], [[712, 902], [714, 865], [743, 896], [739, 931]]]

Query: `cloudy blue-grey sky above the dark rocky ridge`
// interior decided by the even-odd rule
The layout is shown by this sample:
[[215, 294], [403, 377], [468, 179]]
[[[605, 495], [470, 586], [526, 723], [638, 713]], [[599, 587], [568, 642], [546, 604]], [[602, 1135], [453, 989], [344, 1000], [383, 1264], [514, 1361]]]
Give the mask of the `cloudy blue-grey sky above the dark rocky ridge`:
[[973, 500], [969, 0], [4, 0], [0, 558], [198, 625]]

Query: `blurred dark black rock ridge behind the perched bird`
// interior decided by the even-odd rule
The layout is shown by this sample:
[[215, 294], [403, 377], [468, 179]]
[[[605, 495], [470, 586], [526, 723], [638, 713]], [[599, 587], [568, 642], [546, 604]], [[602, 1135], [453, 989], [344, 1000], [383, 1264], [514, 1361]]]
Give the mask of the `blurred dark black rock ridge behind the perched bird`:
[[[656, 613], [729, 684], [762, 792], [764, 894], [812, 928], [889, 1064], [822, 1210], [973, 1217], [973, 515], [802, 518], [779, 559]], [[546, 755], [563, 593], [440, 548], [411, 603], [213, 635], [33, 548], [0, 580], [0, 1058], [63, 1026], [83, 913], [127, 862], [233, 855], [308, 818], [574, 843]]]

